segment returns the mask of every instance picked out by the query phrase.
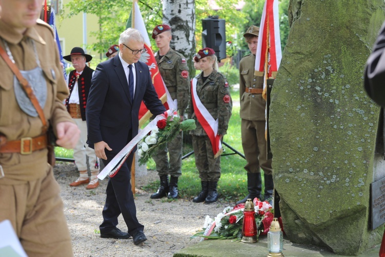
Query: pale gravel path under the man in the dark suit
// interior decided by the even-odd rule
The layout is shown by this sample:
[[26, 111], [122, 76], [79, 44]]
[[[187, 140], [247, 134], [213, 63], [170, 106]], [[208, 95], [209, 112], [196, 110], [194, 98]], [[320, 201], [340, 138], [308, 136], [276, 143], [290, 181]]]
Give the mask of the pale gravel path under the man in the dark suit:
[[[171, 203], [167, 203], [165, 198], [150, 199], [150, 193], [140, 190], [140, 187], [159, 177], [155, 171], [148, 171], [146, 176], [136, 177], [139, 188], [135, 199], [137, 216], [148, 238], [136, 246], [132, 238], [115, 240], [100, 237], [107, 179], [100, 181], [100, 186], [94, 190], [86, 190], [85, 186], [69, 187], [68, 184], [79, 173], [73, 163], [64, 162], [56, 163], [54, 175], [62, 191], [74, 256], [172, 256], [180, 249], [199, 242], [199, 238], [190, 240], [189, 237], [202, 228], [206, 215], [216, 216], [228, 206], [227, 203], [195, 204], [187, 199]], [[119, 216], [118, 228], [127, 231], [122, 216]]]

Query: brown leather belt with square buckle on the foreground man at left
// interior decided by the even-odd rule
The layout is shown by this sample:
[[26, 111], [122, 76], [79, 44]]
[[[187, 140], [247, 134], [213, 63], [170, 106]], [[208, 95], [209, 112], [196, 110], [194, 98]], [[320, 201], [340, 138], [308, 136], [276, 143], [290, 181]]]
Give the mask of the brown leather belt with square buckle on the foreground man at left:
[[0, 146], [0, 153], [31, 154], [33, 151], [47, 148], [48, 137], [46, 134], [37, 137], [23, 137], [20, 140], [7, 141]]

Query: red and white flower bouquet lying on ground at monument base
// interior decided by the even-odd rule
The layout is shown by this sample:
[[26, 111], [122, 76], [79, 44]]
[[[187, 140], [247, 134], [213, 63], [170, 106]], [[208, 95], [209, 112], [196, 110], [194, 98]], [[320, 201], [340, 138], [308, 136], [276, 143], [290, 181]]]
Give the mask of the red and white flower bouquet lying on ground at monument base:
[[[257, 224], [257, 237], [266, 235], [273, 221], [273, 207], [267, 201], [254, 198], [255, 222]], [[214, 219], [206, 216], [203, 231], [199, 231], [191, 238], [201, 236], [205, 239], [242, 239], [244, 204], [235, 207], [226, 207]]]

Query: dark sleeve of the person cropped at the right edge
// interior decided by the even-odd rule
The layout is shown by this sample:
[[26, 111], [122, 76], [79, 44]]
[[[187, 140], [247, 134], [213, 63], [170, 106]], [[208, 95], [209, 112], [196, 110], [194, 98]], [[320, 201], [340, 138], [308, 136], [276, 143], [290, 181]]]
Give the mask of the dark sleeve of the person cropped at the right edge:
[[370, 98], [385, 106], [385, 22], [365, 68], [364, 86]]

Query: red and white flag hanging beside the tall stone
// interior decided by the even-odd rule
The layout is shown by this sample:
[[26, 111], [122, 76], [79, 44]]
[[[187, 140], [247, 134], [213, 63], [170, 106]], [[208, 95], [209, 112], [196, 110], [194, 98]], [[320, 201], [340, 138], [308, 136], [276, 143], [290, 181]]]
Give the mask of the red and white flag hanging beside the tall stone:
[[265, 100], [267, 79], [276, 77], [281, 59], [278, 0], [266, 0], [259, 28], [254, 71], [256, 76], [265, 77], [262, 93]]

